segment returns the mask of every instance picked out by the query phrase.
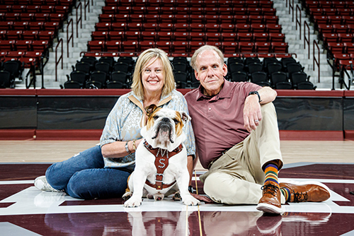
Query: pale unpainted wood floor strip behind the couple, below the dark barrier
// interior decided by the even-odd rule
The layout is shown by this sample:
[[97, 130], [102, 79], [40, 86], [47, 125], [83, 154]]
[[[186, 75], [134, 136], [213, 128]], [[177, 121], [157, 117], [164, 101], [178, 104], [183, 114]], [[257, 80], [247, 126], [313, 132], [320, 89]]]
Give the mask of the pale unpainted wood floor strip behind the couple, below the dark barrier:
[[[54, 163], [95, 146], [98, 141], [1, 141], [0, 163]], [[281, 141], [285, 164], [354, 163], [354, 141]], [[196, 170], [203, 170], [198, 163]]]

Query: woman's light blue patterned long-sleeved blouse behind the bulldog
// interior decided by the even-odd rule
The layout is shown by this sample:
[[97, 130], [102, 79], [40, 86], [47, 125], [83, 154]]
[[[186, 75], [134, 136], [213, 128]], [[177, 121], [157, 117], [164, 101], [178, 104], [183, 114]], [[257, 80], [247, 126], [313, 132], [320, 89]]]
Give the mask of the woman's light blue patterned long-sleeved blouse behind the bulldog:
[[[169, 95], [161, 98], [157, 106], [188, 113], [187, 102], [182, 93], [177, 90], [173, 90]], [[130, 92], [120, 96], [105, 121], [100, 145], [142, 138], [140, 130], [144, 126], [145, 120], [143, 109], [143, 102], [137, 98], [135, 93]], [[184, 144], [187, 153], [188, 155], [195, 155], [195, 139], [190, 122], [185, 124], [183, 131], [186, 136]], [[134, 170], [135, 153], [122, 158], [104, 158], [104, 161], [105, 167], [125, 167]]]

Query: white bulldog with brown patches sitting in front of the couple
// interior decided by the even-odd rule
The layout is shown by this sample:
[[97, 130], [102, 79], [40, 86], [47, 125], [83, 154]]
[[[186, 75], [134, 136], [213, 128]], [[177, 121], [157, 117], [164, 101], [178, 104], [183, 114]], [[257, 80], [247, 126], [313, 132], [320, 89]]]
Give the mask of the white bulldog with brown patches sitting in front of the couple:
[[124, 206], [140, 206], [142, 196], [162, 200], [178, 189], [185, 205], [200, 204], [188, 191], [187, 151], [182, 128], [190, 117], [185, 112], [156, 105], [147, 108], [147, 115], [147, 125], [141, 131], [143, 139], [135, 153], [135, 170], [122, 196], [127, 200]]

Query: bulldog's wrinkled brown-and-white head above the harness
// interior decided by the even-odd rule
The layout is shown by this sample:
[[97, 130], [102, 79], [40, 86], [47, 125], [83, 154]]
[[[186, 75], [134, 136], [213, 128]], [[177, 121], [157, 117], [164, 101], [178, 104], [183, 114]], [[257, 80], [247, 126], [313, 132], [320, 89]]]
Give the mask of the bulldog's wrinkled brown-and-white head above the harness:
[[[147, 108], [147, 115], [145, 129], [149, 133], [149, 137], [144, 137], [147, 138], [147, 141], [151, 138], [154, 143], [161, 143], [163, 146], [175, 143], [178, 137], [183, 138], [184, 141], [183, 126], [190, 120], [188, 114], [151, 105]], [[179, 141], [179, 143], [181, 142]]]

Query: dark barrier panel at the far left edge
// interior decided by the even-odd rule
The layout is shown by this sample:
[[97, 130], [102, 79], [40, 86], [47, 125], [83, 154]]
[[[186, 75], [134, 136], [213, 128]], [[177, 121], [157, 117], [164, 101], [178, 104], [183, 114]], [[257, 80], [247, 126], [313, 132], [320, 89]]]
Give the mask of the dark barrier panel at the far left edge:
[[35, 129], [37, 98], [33, 96], [0, 97], [0, 129]]

